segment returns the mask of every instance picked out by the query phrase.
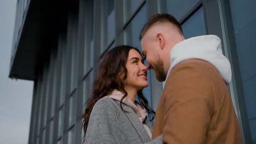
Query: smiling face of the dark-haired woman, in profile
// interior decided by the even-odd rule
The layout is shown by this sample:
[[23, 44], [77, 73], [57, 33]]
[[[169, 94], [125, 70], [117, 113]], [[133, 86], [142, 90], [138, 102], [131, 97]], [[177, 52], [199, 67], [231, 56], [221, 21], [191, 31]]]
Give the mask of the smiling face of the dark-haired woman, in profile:
[[131, 49], [126, 62], [127, 78], [124, 81], [125, 89], [136, 90], [148, 86], [147, 67], [142, 63], [142, 57], [136, 50]]

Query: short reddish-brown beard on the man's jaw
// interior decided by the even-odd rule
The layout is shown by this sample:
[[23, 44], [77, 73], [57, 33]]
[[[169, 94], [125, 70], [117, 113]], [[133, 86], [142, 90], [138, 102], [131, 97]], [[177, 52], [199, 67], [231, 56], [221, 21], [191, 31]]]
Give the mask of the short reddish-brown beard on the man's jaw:
[[164, 62], [158, 57], [158, 60], [156, 61], [155, 65], [153, 65], [155, 70], [155, 77], [158, 79], [158, 81], [165, 81], [166, 74], [164, 71]]

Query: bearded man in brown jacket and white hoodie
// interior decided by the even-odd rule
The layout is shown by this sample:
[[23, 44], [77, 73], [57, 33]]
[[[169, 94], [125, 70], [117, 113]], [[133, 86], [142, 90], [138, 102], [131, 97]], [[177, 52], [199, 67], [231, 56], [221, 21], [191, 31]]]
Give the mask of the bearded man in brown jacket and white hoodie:
[[242, 143], [226, 85], [231, 81], [220, 39], [204, 35], [185, 40], [179, 22], [153, 15], [141, 31], [142, 53], [156, 79], [165, 81], [152, 139], [164, 143]]

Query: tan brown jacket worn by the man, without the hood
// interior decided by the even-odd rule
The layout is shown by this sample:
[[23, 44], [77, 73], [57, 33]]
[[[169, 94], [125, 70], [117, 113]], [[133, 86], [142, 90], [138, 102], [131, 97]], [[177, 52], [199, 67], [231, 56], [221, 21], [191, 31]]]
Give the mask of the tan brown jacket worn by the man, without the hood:
[[172, 69], [152, 139], [161, 134], [164, 143], [242, 143], [228, 88], [213, 65], [189, 59]]

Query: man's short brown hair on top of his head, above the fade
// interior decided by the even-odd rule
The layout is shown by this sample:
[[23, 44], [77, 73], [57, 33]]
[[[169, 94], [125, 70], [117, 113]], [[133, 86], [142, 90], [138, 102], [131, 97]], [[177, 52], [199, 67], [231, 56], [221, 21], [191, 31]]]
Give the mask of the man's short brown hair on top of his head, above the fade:
[[144, 34], [148, 31], [150, 27], [152, 27], [155, 23], [164, 23], [170, 22], [172, 25], [178, 28], [178, 31], [183, 35], [182, 27], [179, 22], [170, 14], [154, 14], [152, 17], [148, 19], [148, 22], [144, 25], [141, 30], [141, 34], [139, 34], [139, 39], [141, 40]]

